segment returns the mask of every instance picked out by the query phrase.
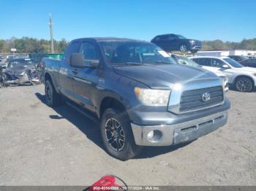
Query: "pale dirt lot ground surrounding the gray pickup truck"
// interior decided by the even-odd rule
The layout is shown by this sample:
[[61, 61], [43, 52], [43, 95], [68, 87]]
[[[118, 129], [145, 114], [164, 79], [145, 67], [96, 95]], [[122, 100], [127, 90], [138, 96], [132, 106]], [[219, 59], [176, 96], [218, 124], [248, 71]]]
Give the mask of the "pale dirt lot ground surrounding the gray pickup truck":
[[126, 162], [102, 149], [97, 123], [44, 104], [43, 86], [0, 89], [0, 185], [256, 185], [256, 93], [230, 91], [225, 127], [180, 147], [147, 147]]

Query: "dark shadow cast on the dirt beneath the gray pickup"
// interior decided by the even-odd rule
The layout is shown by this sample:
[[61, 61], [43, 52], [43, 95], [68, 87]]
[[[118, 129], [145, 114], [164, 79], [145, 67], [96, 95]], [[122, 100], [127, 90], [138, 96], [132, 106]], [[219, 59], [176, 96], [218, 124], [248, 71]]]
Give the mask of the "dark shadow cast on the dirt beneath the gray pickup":
[[[42, 95], [41, 93], [35, 93], [35, 95], [43, 104], [45, 104], [45, 95]], [[99, 122], [94, 122], [85, 115], [80, 114], [80, 112], [76, 111], [72, 107], [67, 106], [67, 104], [64, 104], [63, 106], [59, 106], [53, 109], [58, 114], [49, 115], [50, 119], [68, 120], [72, 123], [72, 125], [78, 128], [86, 136], [87, 139], [90, 139], [98, 147], [105, 150], [102, 138], [100, 136]], [[179, 144], [171, 147], [144, 147], [141, 154], [135, 157], [134, 159], [142, 159], [148, 157], [155, 157], [158, 155], [164, 155], [167, 152], [172, 152], [176, 149], [186, 146], [187, 144]]]

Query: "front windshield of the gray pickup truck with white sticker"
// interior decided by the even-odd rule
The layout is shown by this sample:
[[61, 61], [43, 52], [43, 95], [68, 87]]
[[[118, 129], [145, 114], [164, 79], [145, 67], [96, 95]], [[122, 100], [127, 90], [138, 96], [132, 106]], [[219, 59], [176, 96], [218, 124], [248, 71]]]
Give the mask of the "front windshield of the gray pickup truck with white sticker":
[[144, 65], [176, 63], [170, 55], [148, 42], [99, 42], [112, 65]]

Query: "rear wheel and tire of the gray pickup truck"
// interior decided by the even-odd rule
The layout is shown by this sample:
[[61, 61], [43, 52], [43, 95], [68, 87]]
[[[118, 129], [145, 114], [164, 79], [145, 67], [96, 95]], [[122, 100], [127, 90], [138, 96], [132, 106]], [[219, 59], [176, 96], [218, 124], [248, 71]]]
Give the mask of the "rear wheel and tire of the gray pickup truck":
[[45, 103], [48, 106], [55, 107], [61, 105], [61, 95], [56, 92], [53, 82], [46, 80], [45, 82]]

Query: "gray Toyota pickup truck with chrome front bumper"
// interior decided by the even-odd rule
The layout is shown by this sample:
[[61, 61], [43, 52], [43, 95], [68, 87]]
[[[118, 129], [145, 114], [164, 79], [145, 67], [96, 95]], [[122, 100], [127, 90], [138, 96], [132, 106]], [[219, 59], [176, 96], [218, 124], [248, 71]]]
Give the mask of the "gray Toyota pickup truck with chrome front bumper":
[[195, 140], [227, 122], [222, 79], [176, 64], [150, 42], [75, 39], [61, 61], [43, 58], [40, 65], [48, 106], [65, 100], [97, 117], [106, 150], [120, 160], [143, 146]]

